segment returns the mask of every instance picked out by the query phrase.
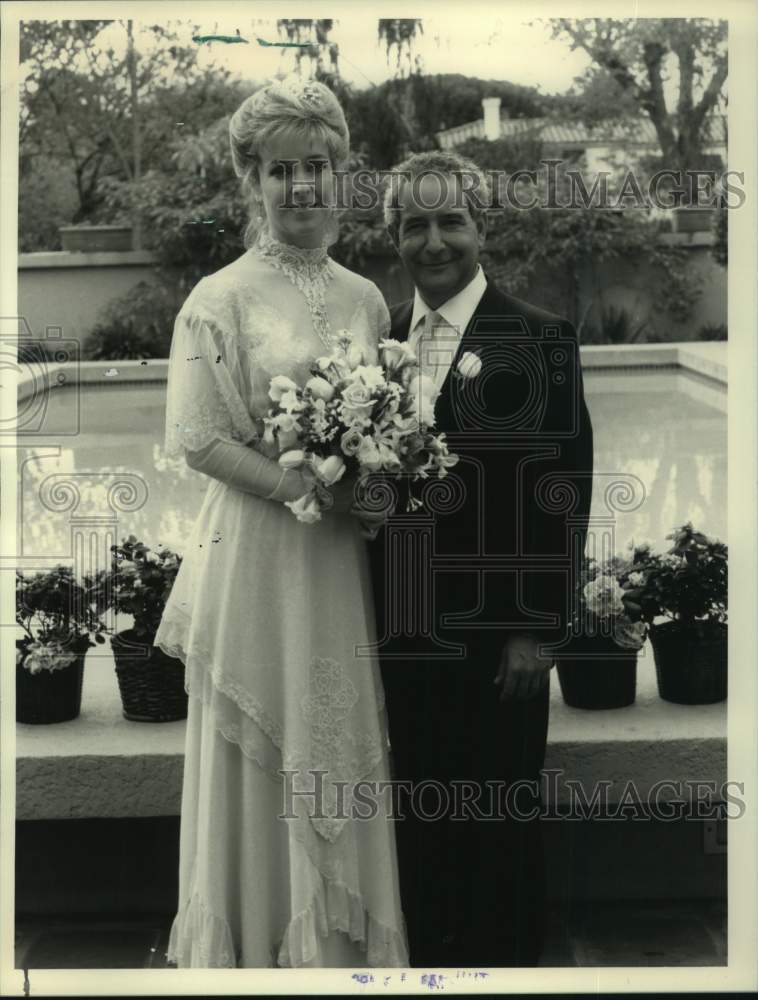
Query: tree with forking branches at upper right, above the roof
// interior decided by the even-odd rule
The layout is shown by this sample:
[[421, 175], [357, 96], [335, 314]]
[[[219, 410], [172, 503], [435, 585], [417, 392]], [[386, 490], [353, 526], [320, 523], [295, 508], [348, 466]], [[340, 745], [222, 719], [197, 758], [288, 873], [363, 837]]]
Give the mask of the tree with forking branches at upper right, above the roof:
[[[585, 92], [595, 96], [612, 81], [627, 112], [650, 118], [664, 165], [671, 170], [701, 166], [708, 116], [726, 101], [727, 22], [705, 18], [614, 20], [555, 18], [553, 36], [580, 48], [592, 59]], [[669, 108], [664, 83], [676, 67], [678, 96]], [[599, 84], [599, 87], [597, 86]], [[618, 105], [616, 114], [618, 115]]]

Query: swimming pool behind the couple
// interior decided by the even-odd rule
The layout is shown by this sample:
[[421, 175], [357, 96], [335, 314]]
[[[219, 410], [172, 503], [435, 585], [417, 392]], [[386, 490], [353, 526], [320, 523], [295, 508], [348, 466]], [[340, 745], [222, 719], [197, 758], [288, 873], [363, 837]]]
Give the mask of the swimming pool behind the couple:
[[[584, 379], [595, 434], [591, 530], [607, 532], [610, 513], [617, 550], [631, 539], [664, 544], [688, 520], [726, 541], [723, 382], [675, 365], [585, 366]], [[101, 378], [48, 397], [35, 433], [19, 442], [20, 564], [69, 561], [76, 532], [134, 534], [181, 552], [207, 479], [164, 453], [165, 382]], [[627, 484], [626, 498], [609, 512], [614, 481]]]

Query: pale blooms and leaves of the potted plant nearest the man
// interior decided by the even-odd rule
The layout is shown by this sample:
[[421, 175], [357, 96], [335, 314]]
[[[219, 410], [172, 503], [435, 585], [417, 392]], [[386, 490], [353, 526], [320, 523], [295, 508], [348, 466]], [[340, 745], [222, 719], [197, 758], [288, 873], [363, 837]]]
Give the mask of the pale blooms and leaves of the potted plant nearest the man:
[[640, 649], [647, 635], [635, 603], [644, 584], [641, 563], [647, 552], [647, 547], [640, 546], [628, 559], [619, 555], [603, 561], [589, 559], [580, 580], [583, 617], [593, 626], [611, 631], [616, 644], [625, 649]]

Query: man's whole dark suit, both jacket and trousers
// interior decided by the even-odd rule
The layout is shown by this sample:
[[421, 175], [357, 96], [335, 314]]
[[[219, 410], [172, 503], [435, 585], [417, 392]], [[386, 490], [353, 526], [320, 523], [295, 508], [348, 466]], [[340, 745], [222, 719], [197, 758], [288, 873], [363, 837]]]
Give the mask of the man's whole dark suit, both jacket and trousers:
[[[392, 337], [407, 338], [411, 314], [410, 302], [393, 311]], [[481, 360], [469, 379], [456, 373], [466, 352]], [[393, 774], [419, 790], [467, 782], [486, 810], [490, 782], [536, 782], [547, 738], [547, 685], [530, 700], [498, 699], [504, 640], [520, 630], [560, 641], [584, 549], [592, 429], [573, 328], [488, 281], [435, 417], [459, 462], [442, 483], [413, 484], [424, 507], [406, 515], [401, 502], [370, 547]], [[431, 606], [421, 594], [430, 587]], [[404, 604], [415, 607], [415, 635], [397, 627]], [[464, 655], [437, 655], [445, 643]], [[428, 822], [413, 804], [404, 811], [411, 964], [534, 965], [545, 913], [539, 823]]]

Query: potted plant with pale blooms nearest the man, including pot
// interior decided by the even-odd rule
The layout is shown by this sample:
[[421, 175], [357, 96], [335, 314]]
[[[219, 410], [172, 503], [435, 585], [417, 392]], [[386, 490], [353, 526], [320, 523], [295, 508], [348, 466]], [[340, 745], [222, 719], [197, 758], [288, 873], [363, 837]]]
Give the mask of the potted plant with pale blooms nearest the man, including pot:
[[[637, 561], [635, 561], [637, 560]], [[631, 559], [589, 559], [579, 580], [574, 635], [558, 653], [563, 700], [572, 708], [623, 708], [634, 702], [637, 653], [646, 626], [627, 607], [627, 595], [641, 582]]]

